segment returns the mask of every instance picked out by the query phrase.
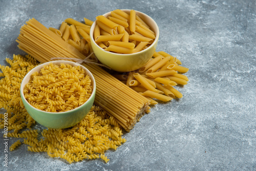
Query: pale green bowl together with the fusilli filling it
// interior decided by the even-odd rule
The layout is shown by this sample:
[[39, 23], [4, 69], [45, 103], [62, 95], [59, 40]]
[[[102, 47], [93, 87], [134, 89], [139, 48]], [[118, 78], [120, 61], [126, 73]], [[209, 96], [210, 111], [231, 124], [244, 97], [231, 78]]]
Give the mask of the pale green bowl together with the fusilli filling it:
[[20, 96], [30, 116], [51, 129], [80, 122], [92, 108], [96, 83], [84, 66], [66, 60], [42, 63], [27, 73]]

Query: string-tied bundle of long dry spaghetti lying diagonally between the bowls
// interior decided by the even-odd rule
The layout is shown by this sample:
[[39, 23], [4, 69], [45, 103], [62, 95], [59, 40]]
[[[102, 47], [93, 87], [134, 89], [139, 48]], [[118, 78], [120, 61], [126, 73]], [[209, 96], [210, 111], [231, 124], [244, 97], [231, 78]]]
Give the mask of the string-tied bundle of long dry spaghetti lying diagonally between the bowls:
[[[20, 29], [16, 40], [18, 47], [39, 62], [51, 61], [54, 57], [86, 58], [36, 19], [32, 18], [26, 24]], [[140, 117], [150, 109], [150, 100], [127, 87], [99, 66], [91, 63], [82, 63], [82, 65], [95, 77], [95, 104], [114, 117], [123, 129], [129, 132]]]

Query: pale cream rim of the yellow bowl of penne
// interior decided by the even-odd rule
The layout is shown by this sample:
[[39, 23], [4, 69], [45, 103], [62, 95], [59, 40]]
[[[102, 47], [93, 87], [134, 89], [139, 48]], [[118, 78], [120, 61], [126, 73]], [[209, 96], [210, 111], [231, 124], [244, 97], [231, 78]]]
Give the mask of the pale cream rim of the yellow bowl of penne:
[[[120, 9], [122, 11], [131, 11], [131, 9]], [[142, 51], [139, 51], [139, 52], [136, 52], [136, 53], [129, 53], [129, 54], [123, 54], [123, 53], [114, 53], [114, 52], [109, 52], [109, 51], [105, 51], [104, 49], [102, 49], [101, 47], [98, 46], [98, 44], [96, 44], [95, 40], [94, 40], [94, 37], [93, 37], [93, 33], [94, 33], [94, 29], [95, 29], [95, 26], [96, 26], [96, 20], [93, 22], [92, 26], [91, 26], [91, 29], [93, 29], [92, 31], [90, 31], [90, 39], [91, 39], [91, 42], [97, 47], [99, 48], [101, 51], [105, 52], [105, 53], [109, 53], [109, 54], [113, 54], [113, 55], [121, 55], [121, 56], [131, 56], [131, 55], [137, 55], [137, 54], [140, 54], [140, 53], [143, 53], [144, 51], [148, 50], [149, 48], [151, 48], [152, 46], [154, 46], [157, 42], [158, 42], [158, 39], [159, 39], [159, 27], [157, 25], [157, 23], [155, 22], [155, 20], [143, 13], [143, 12], [140, 12], [140, 11], [137, 11], [135, 10], [136, 13], [139, 13], [140, 15], [145, 15], [147, 18], [150, 18], [150, 20], [152, 20], [152, 23], [153, 25], [156, 26], [156, 38], [154, 39], [153, 43], [146, 49], [142, 50]], [[111, 14], [111, 11], [107, 12], [107, 13], [104, 13], [102, 14], [103, 16], [109, 16]]]

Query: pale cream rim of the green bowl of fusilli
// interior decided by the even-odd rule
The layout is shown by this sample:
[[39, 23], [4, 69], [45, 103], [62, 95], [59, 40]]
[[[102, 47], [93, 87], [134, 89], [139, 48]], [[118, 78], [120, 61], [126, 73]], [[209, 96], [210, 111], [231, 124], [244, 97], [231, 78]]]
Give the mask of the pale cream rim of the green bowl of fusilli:
[[[65, 63], [65, 64], [70, 64], [72, 66], [80, 66], [83, 70], [86, 70], [87, 73], [89, 73], [89, 76], [90, 76], [90, 79], [92, 80], [93, 82], [93, 91], [92, 91], [92, 94], [91, 96], [88, 98], [88, 100], [86, 102], [84, 102], [82, 105], [78, 106], [77, 108], [75, 109], [72, 109], [72, 110], [69, 110], [69, 111], [65, 111], [65, 112], [47, 112], [47, 111], [42, 111], [42, 110], [39, 110], [37, 108], [35, 108], [34, 106], [32, 106], [28, 101], [27, 99], [25, 98], [25, 95], [24, 95], [24, 87], [26, 85], [27, 82], [25, 82], [25, 78], [26, 77], [29, 77], [32, 75], [32, 73], [35, 72], [35, 70], [38, 70], [38, 68], [43, 68], [44, 66], [46, 65], [49, 65], [49, 63]], [[30, 79], [28, 79], [30, 80]], [[84, 66], [80, 65], [79, 63], [77, 62], [73, 62], [73, 61], [68, 61], [68, 60], [53, 60], [53, 61], [49, 61], [49, 62], [45, 62], [45, 63], [41, 63], [40, 65], [36, 66], [35, 68], [33, 68], [32, 70], [30, 70], [23, 78], [22, 80], [22, 83], [20, 84], [20, 96], [23, 100], [26, 101], [26, 103], [30, 106], [30, 108], [32, 108], [33, 110], [36, 110], [38, 112], [42, 112], [42, 113], [45, 113], [45, 114], [53, 114], [53, 115], [64, 115], [64, 114], [69, 114], [69, 113], [73, 113], [75, 112], [76, 110], [79, 110], [80, 108], [83, 108], [83, 106], [85, 106], [87, 103], [89, 103], [90, 99], [93, 98], [93, 96], [96, 94], [96, 81], [95, 81], [95, 78], [93, 76], [93, 74]]]

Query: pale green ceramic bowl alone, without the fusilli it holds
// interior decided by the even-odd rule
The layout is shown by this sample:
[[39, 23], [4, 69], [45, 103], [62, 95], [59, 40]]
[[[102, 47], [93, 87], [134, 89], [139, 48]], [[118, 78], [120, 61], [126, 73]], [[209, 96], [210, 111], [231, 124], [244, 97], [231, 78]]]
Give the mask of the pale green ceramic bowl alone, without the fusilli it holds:
[[86, 74], [88, 74], [92, 80], [93, 91], [90, 98], [85, 103], [80, 105], [78, 108], [67, 111], [67, 112], [41, 111], [34, 108], [31, 104], [29, 104], [29, 102], [26, 100], [24, 96], [24, 92], [23, 92], [24, 87], [26, 83], [29, 82], [32, 73], [36, 71], [40, 72], [40, 69], [43, 68], [45, 65], [49, 65], [50, 62], [42, 63], [41, 65], [33, 68], [31, 71], [28, 72], [28, 74], [24, 77], [22, 84], [20, 85], [20, 96], [22, 97], [22, 101], [24, 103], [24, 106], [27, 112], [36, 122], [51, 129], [65, 129], [80, 122], [84, 117], [86, 117], [86, 115], [92, 108], [95, 94], [96, 94], [96, 82], [92, 73], [87, 68], [81, 66], [76, 62], [66, 61], [66, 60], [57, 60], [57, 61], [51, 61], [51, 62], [54, 63], [55, 65], [60, 65], [60, 63], [65, 63], [71, 66], [80, 66], [83, 70], [85, 70]]

